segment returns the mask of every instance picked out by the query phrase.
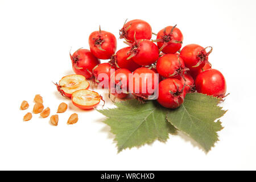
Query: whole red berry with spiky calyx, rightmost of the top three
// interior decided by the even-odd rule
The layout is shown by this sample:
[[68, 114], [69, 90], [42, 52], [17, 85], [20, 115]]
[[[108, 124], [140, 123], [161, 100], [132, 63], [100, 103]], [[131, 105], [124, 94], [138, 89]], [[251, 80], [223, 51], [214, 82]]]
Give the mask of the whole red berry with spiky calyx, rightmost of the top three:
[[183, 35], [176, 26], [168, 26], [158, 32], [155, 42], [163, 53], [176, 53], [182, 46]]

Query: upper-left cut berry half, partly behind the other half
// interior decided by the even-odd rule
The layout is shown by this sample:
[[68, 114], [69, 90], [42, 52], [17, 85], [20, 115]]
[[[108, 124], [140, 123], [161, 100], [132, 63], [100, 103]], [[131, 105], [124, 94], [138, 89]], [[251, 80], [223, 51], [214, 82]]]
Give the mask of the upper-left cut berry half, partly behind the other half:
[[62, 96], [71, 97], [72, 93], [81, 89], [88, 89], [90, 84], [82, 75], [68, 75], [61, 78], [59, 84], [55, 84]]

